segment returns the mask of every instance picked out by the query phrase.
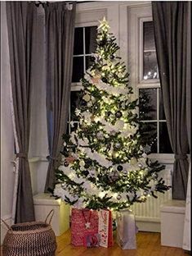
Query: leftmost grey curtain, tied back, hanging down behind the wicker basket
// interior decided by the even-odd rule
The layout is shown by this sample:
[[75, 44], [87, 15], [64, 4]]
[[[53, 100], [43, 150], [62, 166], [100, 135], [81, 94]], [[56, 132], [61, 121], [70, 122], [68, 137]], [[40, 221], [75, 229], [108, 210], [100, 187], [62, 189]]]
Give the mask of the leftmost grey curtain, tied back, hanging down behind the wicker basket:
[[32, 84], [33, 25], [36, 9], [29, 2], [7, 2], [7, 27], [10, 49], [11, 89], [19, 152], [19, 177], [15, 222], [34, 220], [28, 151], [30, 91]]

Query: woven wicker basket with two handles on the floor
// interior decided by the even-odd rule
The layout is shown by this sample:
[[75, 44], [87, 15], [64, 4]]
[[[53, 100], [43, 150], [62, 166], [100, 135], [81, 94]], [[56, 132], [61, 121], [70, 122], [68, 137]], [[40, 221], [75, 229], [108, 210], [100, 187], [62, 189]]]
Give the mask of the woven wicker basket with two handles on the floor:
[[[24, 222], [7, 226], [8, 231], [2, 244], [3, 256], [54, 256], [56, 235], [51, 228], [53, 210], [45, 222]], [[51, 217], [50, 217], [51, 216]], [[47, 222], [50, 217], [49, 222]]]

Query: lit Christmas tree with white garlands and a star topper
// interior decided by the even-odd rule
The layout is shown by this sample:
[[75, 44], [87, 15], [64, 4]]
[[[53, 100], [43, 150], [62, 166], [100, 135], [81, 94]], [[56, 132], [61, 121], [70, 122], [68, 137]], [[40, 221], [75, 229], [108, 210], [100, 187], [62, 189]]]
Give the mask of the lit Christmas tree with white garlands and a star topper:
[[159, 162], [141, 144], [137, 100], [108, 22], [100, 21], [92, 66], [75, 110], [79, 127], [64, 135], [54, 194], [76, 208], [128, 208], [168, 190]]

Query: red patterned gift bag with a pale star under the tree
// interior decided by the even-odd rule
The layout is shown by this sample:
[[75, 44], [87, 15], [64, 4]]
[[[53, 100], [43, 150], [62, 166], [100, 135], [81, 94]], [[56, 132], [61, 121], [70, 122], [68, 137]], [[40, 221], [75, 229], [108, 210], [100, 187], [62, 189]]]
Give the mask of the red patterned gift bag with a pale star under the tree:
[[72, 208], [71, 244], [82, 246], [87, 232], [98, 233], [98, 213], [95, 210]]

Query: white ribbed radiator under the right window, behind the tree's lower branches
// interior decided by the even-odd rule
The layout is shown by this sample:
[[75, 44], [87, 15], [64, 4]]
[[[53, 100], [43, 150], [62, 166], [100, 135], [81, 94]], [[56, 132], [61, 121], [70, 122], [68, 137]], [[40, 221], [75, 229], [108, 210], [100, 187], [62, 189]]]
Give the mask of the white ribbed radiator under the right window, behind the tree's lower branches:
[[[172, 185], [171, 170], [163, 170], [159, 173], [166, 185]], [[160, 206], [172, 199], [172, 189], [165, 193], [157, 193], [158, 199], [150, 196], [145, 203], [134, 203], [132, 212], [136, 216], [136, 226], [139, 231], [160, 232]]]

